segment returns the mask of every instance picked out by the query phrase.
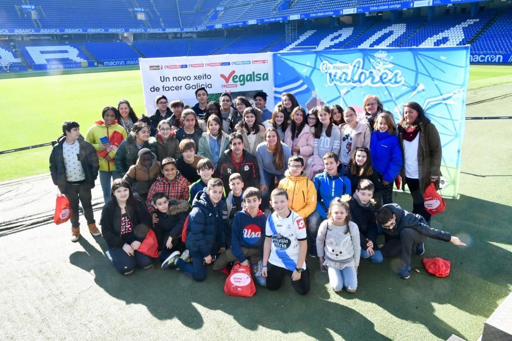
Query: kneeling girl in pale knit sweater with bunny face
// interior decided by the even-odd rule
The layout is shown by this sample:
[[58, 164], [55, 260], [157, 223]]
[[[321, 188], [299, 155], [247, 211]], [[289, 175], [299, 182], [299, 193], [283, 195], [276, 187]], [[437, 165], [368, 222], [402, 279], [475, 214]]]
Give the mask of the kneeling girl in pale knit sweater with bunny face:
[[321, 269], [327, 266], [332, 289], [341, 291], [345, 286], [348, 292], [355, 292], [361, 245], [359, 230], [351, 221], [350, 207], [345, 197], [332, 200], [327, 219], [318, 229], [316, 249]]

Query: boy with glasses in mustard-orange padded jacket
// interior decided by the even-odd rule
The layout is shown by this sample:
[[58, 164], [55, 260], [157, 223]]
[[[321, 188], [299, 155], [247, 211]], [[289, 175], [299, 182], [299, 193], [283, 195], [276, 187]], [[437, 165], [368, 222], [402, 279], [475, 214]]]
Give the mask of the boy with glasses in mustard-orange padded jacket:
[[316, 189], [303, 170], [304, 158], [300, 155], [291, 156], [288, 159], [285, 178], [279, 181], [279, 188], [288, 193], [290, 198], [288, 208], [306, 221], [306, 218], [316, 209]]

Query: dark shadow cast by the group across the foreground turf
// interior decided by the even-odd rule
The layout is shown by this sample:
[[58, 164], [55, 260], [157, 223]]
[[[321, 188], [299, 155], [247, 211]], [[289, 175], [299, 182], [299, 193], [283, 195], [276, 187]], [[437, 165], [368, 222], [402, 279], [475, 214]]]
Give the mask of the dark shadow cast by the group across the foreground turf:
[[[407, 202], [404, 198], [398, 201]], [[406, 204], [403, 207], [408, 208]], [[399, 261], [397, 267], [396, 259], [385, 260], [380, 265], [361, 260], [357, 293], [350, 295], [343, 291], [339, 297], [328, 287], [328, 277], [319, 272], [315, 259], [309, 259], [312, 289], [306, 297], [296, 295], [289, 281], [285, 281], [279, 291], [257, 287], [252, 299], [226, 296], [223, 292], [225, 276], [211, 270], [204, 283], [195, 283], [179, 271], [159, 268], [136, 269], [131, 276], [121, 276], [104, 254], [84, 238], [79, 243], [85, 252], [70, 255], [70, 263], [85, 271], [94, 270], [99, 287], [127, 304], [145, 305], [159, 320], [176, 317], [191, 329], [200, 329], [206, 324], [208, 328], [224, 328], [227, 338], [236, 336], [233, 333], [237, 327], [216, 325], [224, 319], [222, 314], [232, 316], [240, 326], [251, 331], [263, 327], [283, 333], [303, 332], [323, 340], [331, 340], [333, 335], [349, 339], [386, 338], [375, 330], [367, 317], [343, 305], [343, 300], [354, 299], [376, 304], [400, 320], [421, 324], [441, 339], [451, 334], [476, 338], [478, 335], [463, 334], [464, 317], [466, 314], [488, 317], [496, 309], [496, 302], [506, 297], [507, 283], [512, 282], [510, 271], [504, 271], [509, 253], [489, 243], [512, 244], [507, 232], [510, 220], [510, 208], [501, 204], [467, 196], [449, 200], [447, 211], [433, 218], [433, 227], [454, 234], [465, 233], [462, 239], [470, 243], [466, 248], [457, 248], [429, 240], [424, 255], [451, 260], [449, 277], [435, 278], [412, 272], [411, 279], [404, 281], [397, 276]], [[104, 250], [104, 241], [98, 242]], [[415, 256], [412, 261], [413, 267], [421, 267], [420, 257]], [[199, 306], [213, 310], [214, 315], [218, 312], [219, 316], [201, 314]], [[447, 314], [442, 307], [450, 309], [451, 313]], [[443, 321], [436, 312], [449, 316], [446, 317], [449, 322]], [[365, 315], [375, 313], [365, 311]], [[460, 319], [456, 314], [460, 314]], [[388, 318], [376, 316], [373, 320]], [[414, 330], [410, 335], [414, 338]]]

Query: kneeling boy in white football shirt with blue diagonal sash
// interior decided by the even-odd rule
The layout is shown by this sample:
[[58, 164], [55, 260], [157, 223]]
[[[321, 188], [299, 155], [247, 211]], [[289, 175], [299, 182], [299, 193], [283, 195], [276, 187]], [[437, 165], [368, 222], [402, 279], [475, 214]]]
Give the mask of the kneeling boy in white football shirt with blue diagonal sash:
[[310, 289], [306, 224], [301, 216], [288, 209], [288, 193], [284, 189], [272, 191], [270, 204], [274, 213], [268, 216], [265, 229], [262, 275], [267, 278], [270, 290], [279, 289], [288, 275], [293, 289], [305, 295]]

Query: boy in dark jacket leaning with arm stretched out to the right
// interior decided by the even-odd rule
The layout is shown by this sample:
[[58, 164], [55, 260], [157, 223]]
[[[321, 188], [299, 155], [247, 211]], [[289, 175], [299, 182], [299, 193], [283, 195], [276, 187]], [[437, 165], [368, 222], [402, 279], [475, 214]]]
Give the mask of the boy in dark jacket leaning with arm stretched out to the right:
[[425, 252], [426, 237], [449, 241], [454, 245], [466, 245], [450, 232], [432, 229], [421, 215], [402, 210], [396, 203], [388, 203], [377, 211], [377, 223], [383, 228], [386, 237], [386, 243], [380, 247], [380, 251], [384, 257], [400, 253], [402, 270], [399, 276], [403, 279], [410, 277], [413, 244], [418, 245], [416, 254], [419, 256]]

